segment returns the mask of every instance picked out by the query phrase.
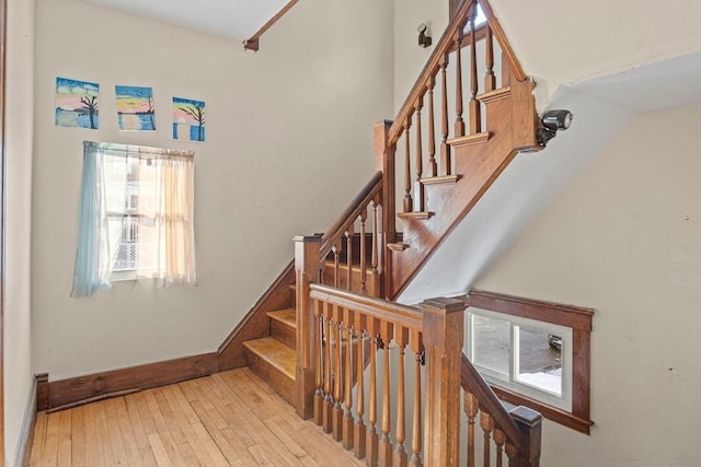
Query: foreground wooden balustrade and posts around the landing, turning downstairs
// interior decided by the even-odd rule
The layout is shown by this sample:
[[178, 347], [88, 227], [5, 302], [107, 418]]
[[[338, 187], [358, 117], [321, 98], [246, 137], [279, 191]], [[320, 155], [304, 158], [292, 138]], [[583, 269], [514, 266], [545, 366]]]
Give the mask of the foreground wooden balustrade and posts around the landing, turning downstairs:
[[[317, 242], [319, 242], [319, 237], [317, 237]], [[457, 465], [460, 445], [458, 435], [460, 422], [457, 413], [460, 407], [460, 388], [462, 388], [466, 392], [466, 405], [468, 396], [471, 400], [470, 443], [474, 435], [472, 427], [478, 407], [482, 411], [480, 424], [484, 431], [485, 463], [489, 463], [490, 458], [491, 433], [497, 430], [494, 431], [494, 442], [497, 446], [504, 446], [504, 442], [506, 442], [507, 455], [510, 460], [516, 462], [514, 465], [528, 467], [538, 465], [542, 417], [526, 407], [507, 411], [462, 352], [463, 302], [451, 299], [433, 299], [423, 302], [421, 308], [417, 308], [319, 283], [309, 283], [308, 290], [309, 306], [310, 310], [313, 310], [313, 317], [310, 320], [313, 325], [310, 329], [323, 329], [322, 334], [315, 337], [314, 352], [317, 353], [311, 359], [314, 362], [310, 371], [315, 375], [315, 390], [308, 392], [308, 395], [309, 397], [313, 396], [315, 400], [314, 420], [317, 423], [326, 423], [326, 431], [332, 431], [337, 441], [343, 440], [346, 448], [352, 448], [354, 443], [354, 439], [349, 434], [353, 431], [349, 413], [353, 411], [354, 404], [364, 407], [363, 401], [358, 399], [361, 396], [353, 394], [355, 384], [353, 374], [354, 372], [363, 373], [363, 369], [368, 363], [368, 359], [364, 357], [364, 350], [360, 349], [363, 336], [366, 336], [369, 339], [380, 339], [382, 342], [380, 347], [377, 347], [377, 342], [372, 341], [376, 342], [374, 343], [376, 347], [368, 348], [370, 360], [380, 349], [382, 349], [383, 355], [381, 440], [379, 457], [378, 447], [376, 444], [371, 444], [372, 448], [368, 453], [370, 465], [376, 465], [376, 463], [383, 466], [392, 465], [392, 446], [394, 446], [393, 462], [406, 465], [406, 452], [403, 445], [405, 441], [404, 410], [406, 408], [403, 397], [406, 384], [404, 350], [410, 347], [417, 354], [417, 364], [421, 364], [423, 359], [418, 355], [423, 355], [423, 349], [426, 348], [426, 393], [423, 396], [420, 395], [420, 399], [415, 399], [414, 404], [421, 407], [421, 399], [426, 401], [424, 409], [426, 431], [423, 442], [425, 442], [426, 451], [424, 454], [428, 464]], [[354, 340], [357, 340], [357, 347], [355, 350], [353, 347], [348, 347], [344, 359], [342, 342], [350, 345]], [[390, 441], [390, 406], [392, 402], [390, 402], [389, 396], [391, 390], [389, 343], [391, 341], [399, 349], [399, 376], [391, 383], [397, 385], [398, 392], [397, 405], [393, 406], [397, 410], [394, 442]], [[355, 366], [352, 364], [349, 352], [358, 355]], [[332, 373], [337, 376], [332, 378]], [[421, 371], [416, 372], [416, 374], [420, 373]], [[369, 378], [370, 382], [376, 378], [375, 365], [371, 366]], [[414, 381], [414, 385], [421, 387], [417, 381]], [[417, 393], [421, 393], [421, 389]], [[375, 389], [371, 389], [370, 396], [372, 394], [375, 394]], [[370, 399], [370, 408], [375, 408], [375, 404]], [[345, 405], [345, 412], [342, 405]], [[466, 409], [467, 412], [468, 409]], [[375, 417], [370, 417], [369, 420], [369, 427], [375, 428]], [[342, 421], [345, 421], [345, 428], [341, 428]], [[360, 423], [364, 424], [364, 422]], [[417, 436], [416, 433], [420, 432], [417, 431], [420, 424], [420, 421], [413, 422], [414, 436]], [[369, 436], [368, 440], [375, 439]], [[420, 443], [417, 440], [414, 441]], [[420, 444], [415, 443], [412, 443], [412, 450], [420, 452], [421, 448], [416, 447]], [[469, 456], [474, 456], [474, 445], [470, 443], [468, 453]], [[361, 452], [365, 456], [365, 448]], [[502, 454], [498, 451], [497, 456], [501, 462]]]

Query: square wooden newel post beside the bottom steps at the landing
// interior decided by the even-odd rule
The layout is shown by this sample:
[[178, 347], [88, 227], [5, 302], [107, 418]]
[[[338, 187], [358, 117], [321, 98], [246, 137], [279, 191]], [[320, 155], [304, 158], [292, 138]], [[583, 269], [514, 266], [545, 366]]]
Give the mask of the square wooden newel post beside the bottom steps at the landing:
[[297, 283], [297, 371], [296, 410], [303, 419], [313, 415], [314, 346], [317, 329], [314, 313], [309, 301], [309, 284], [319, 280], [320, 236], [296, 236], [295, 277]]

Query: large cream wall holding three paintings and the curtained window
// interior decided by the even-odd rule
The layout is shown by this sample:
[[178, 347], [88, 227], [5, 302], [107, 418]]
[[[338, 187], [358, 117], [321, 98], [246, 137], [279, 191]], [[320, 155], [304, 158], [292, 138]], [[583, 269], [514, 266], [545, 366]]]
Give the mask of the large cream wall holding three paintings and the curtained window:
[[[304, 1], [240, 44], [78, 1], [37, 2], [33, 236], [37, 372], [60, 380], [215, 350], [374, 172], [392, 112], [392, 3]], [[358, 34], [361, 31], [363, 34]], [[54, 126], [56, 77], [101, 84], [99, 130]], [[156, 133], [119, 132], [114, 85], [153, 86]], [[171, 140], [171, 97], [207, 103], [207, 141]], [[70, 299], [83, 140], [196, 152], [199, 287], [117, 283]]]

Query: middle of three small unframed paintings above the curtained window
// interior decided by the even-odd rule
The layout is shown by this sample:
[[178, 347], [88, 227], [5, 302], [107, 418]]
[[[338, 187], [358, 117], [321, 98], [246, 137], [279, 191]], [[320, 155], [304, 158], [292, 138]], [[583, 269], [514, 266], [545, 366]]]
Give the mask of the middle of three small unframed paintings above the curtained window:
[[156, 131], [151, 87], [116, 85], [117, 121], [120, 130]]

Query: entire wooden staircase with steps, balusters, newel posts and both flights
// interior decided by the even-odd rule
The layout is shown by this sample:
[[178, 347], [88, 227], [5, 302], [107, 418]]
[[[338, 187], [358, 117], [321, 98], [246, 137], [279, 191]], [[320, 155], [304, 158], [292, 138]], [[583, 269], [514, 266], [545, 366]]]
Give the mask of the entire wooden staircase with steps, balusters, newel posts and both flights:
[[464, 303], [393, 302], [509, 162], [540, 149], [532, 90], [489, 2], [460, 2], [395, 119], [375, 128], [378, 172], [327, 232], [295, 238], [294, 292], [271, 292], [289, 304], [243, 342], [246, 365], [369, 466], [458, 465], [461, 407], [469, 466], [475, 420], [485, 465], [491, 443], [497, 465], [538, 465], [541, 416], [506, 411], [464, 357]]

